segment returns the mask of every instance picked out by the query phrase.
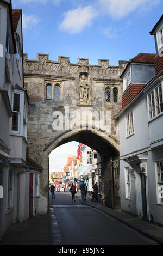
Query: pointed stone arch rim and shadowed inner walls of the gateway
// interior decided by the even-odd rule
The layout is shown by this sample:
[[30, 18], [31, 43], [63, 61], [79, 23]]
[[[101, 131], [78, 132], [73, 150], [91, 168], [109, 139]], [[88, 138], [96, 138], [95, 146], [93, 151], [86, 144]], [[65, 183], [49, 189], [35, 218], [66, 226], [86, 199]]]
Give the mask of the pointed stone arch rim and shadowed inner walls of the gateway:
[[49, 180], [47, 173], [49, 172], [49, 154], [56, 148], [69, 142], [77, 142], [87, 145], [95, 150], [101, 157], [101, 202], [111, 208], [120, 208], [120, 176], [119, 176], [119, 160], [118, 144], [114, 139], [105, 133], [95, 133], [94, 131], [70, 131], [55, 137], [46, 145], [42, 156], [42, 179], [43, 186], [41, 192], [47, 197]]

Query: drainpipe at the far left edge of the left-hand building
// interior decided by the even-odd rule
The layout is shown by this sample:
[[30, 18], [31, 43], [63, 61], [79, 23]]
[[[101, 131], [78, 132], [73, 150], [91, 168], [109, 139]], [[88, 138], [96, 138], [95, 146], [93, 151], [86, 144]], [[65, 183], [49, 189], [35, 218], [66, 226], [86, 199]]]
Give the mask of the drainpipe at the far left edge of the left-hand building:
[[[1, 161], [3, 163], [2, 168], [0, 170], [1, 174], [1, 186], [4, 184], [4, 168], [9, 166], [9, 159], [5, 159]], [[0, 199], [0, 242], [2, 242], [2, 215], [3, 215], [3, 198]]]

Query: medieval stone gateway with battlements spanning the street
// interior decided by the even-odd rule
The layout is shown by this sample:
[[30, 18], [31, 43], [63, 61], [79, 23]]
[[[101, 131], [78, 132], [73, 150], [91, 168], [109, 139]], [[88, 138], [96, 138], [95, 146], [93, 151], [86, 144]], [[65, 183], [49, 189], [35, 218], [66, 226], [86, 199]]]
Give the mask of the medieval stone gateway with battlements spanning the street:
[[42, 167], [40, 204], [47, 209], [49, 154], [62, 144], [78, 141], [101, 155], [103, 204], [120, 207], [119, 179], [114, 179], [115, 170], [119, 173], [114, 117], [121, 109], [120, 75], [127, 62], [110, 66], [109, 60], [99, 59], [98, 65], [89, 65], [89, 59], [79, 58], [72, 64], [68, 57], [49, 60], [48, 54], [29, 60], [27, 53], [23, 59], [24, 88], [30, 102], [28, 154]]

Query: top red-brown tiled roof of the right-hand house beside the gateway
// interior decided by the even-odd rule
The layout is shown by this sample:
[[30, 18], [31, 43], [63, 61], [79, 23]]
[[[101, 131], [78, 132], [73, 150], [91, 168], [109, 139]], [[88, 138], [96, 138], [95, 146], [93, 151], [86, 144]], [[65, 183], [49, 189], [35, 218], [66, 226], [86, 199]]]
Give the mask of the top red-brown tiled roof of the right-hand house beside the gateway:
[[139, 53], [139, 54], [137, 54], [134, 58], [129, 59], [127, 66], [123, 70], [120, 78], [122, 78], [124, 72], [126, 71], [126, 69], [128, 68], [128, 66], [131, 62], [154, 64], [154, 60], [155, 60], [155, 53]]

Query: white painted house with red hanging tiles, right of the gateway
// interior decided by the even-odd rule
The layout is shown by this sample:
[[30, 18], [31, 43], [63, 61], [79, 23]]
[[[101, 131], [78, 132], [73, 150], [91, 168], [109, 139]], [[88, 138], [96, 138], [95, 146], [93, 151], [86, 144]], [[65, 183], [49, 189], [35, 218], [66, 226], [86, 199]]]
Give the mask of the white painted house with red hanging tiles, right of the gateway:
[[163, 226], [163, 15], [150, 33], [156, 54], [138, 54], [121, 75], [121, 209]]

